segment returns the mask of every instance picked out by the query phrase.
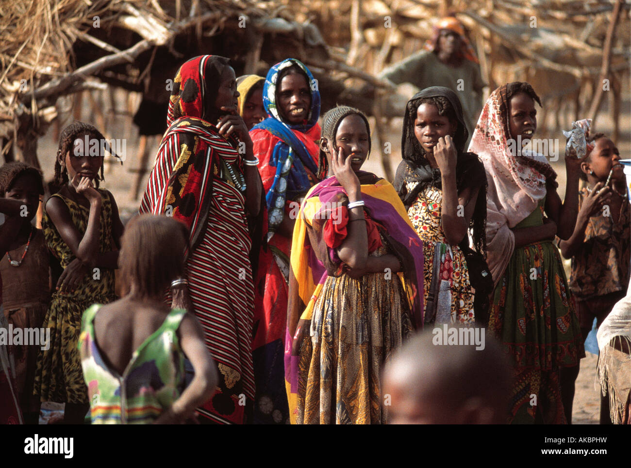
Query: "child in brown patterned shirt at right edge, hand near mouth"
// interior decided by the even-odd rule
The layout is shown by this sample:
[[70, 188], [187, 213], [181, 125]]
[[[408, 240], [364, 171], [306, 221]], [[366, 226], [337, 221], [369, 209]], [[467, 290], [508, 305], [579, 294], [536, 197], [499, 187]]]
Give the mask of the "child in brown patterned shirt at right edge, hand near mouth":
[[[574, 232], [560, 242], [563, 256], [572, 259], [570, 290], [576, 299], [583, 340], [594, 317], [599, 327], [616, 302], [625, 297], [631, 258], [631, 208], [620, 152], [603, 134], [594, 135], [589, 142], [593, 149], [581, 163], [581, 176], [588, 185], [579, 193]], [[579, 367], [580, 363], [573, 368], [572, 382]], [[571, 414], [571, 400], [567, 404]], [[600, 423], [611, 423], [605, 397], [601, 397]]]

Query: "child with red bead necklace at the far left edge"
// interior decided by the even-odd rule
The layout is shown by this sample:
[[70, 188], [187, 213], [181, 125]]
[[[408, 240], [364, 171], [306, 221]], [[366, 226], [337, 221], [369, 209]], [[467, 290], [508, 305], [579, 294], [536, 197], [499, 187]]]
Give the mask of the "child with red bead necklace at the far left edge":
[[[28, 164], [13, 162], [0, 168], [0, 197], [19, 200], [23, 210], [13, 242], [0, 260], [3, 277], [4, 317], [13, 329], [38, 329], [42, 326], [50, 299], [49, 251], [44, 232], [31, 224], [44, 195], [42, 173]], [[43, 329], [41, 329], [43, 330]], [[37, 355], [47, 346], [45, 334], [39, 343], [11, 345], [15, 358], [18, 398], [24, 422], [37, 424], [40, 401], [33, 396]], [[39, 346], [37, 346], [39, 345]]]

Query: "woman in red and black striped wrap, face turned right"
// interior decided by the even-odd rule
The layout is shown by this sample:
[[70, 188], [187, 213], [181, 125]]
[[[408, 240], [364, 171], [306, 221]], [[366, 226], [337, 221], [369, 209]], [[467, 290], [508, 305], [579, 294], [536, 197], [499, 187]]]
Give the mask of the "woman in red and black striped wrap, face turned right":
[[247, 216], [256, 222], [262, 185], [238, 97], [225, 57], [201, 55], [180, 67], [140, 208], [191, 231], [188, 285], [172, 288], [172, 300], [194, 310], [219, 368], [218, 391], [198, 408], [209, 423], [248, 423], [254, 401]]

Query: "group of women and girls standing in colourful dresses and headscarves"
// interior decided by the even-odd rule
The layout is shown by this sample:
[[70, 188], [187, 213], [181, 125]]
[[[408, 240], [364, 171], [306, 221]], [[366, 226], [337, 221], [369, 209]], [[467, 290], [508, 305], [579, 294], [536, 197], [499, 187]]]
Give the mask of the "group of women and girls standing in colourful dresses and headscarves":
[[[618, 200], [628, 228], [626, 193], [599, 190], [615, 146], [596, 135], [586, 159], [566, 155], [562, 202], [545, 157], [510, 150], [536, 130], [528, 83], [493, 91], [468, 148], [459, 98], [436, 86], [408, 101], [392, 185], [362, 171], [366, 116], [338, 106], [321, 127], [314, 83], [295, 59], [238, 79], [224, 57], [184, 63], [125, 228], [98, 188], [103, 152], [82, 146], [102, 138], [91, 125], [62, 132], [42, 231], [40, 173], [0, 169], [4, 312], [51, 330], [49, 348], [14, 346], [17, 372], [4, 366], [25, 421], [57, 401], [66, 422], [90, 408], [93, 423], [386, 423], [392, 353], [423, 327], [477, 324], [514, 358], [507, 421], [566, 422], [562, 370], [584, 351], [552, 241], [580, 249], [582, 173], [580, 222]], [[50, 302], [48, 251], [62, 269]]]

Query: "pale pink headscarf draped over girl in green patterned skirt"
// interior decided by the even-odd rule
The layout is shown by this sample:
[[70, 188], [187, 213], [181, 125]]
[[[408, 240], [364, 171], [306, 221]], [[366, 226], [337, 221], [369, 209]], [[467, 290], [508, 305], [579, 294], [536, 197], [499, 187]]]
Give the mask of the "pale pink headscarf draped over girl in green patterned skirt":
[[546, 196], [546, 180], [553, 183], [557, 176], [545, 156], [516, 154], [507, 98], [509, 86], [515, 84], [504, 84], [489, 96], [469, 145], [487, 171], [487, 263], [496, 285], [515, 246], [510, 228], [533, 212]]

